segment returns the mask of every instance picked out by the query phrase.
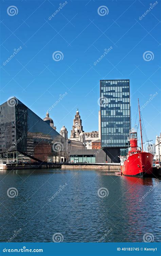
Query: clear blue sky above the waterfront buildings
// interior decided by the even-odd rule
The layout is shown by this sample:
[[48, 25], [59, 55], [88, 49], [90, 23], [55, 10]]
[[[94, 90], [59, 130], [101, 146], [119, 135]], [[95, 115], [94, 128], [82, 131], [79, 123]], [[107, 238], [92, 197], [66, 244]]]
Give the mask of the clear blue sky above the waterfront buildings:
[[[138, 97], [142, 106], [158, 93], [142, 110], [148, 139], [155, 140], [160, 133], [160, 1], [139, 19], [154, 2], [68, 0], [49, 20], [59, 1], [1, 1], [1, 103], [16, 96], [43, 118], [66, 93], [49, 111], [57, 131], [65, 125], [70, 133], [77, 108], [84, 130], [98, 130], [100, 79], [130, 79], [133, 125]], [[11, 5], [17, 15], [8, 15]], [[102, 5], [107, 15], [98, 14]], [[53, 59], [55, 51], [63, 53], [62, 60]], [[150, 61], [143, 58], [147, 51]]]

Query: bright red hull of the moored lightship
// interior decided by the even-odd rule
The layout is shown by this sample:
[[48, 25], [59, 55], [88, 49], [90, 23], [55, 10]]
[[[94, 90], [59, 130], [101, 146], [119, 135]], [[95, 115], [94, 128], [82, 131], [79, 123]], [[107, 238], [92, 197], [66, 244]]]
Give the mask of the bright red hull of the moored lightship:
[[152, 175], [153, 157], [153, 154], [147, 152], [130, 155], [121, 166], [121, 172], [126, 176]]

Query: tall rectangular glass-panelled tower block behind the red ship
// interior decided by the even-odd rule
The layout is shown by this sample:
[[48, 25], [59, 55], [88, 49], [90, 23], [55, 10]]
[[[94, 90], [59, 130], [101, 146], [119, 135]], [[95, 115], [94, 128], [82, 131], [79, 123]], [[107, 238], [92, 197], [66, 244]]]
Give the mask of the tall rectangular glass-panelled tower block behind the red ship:
[[129, 80], [100, 80], [101, 146], [106, 160], [119, 162], [126, 155], [130, 129]]

